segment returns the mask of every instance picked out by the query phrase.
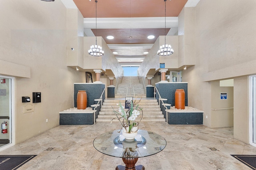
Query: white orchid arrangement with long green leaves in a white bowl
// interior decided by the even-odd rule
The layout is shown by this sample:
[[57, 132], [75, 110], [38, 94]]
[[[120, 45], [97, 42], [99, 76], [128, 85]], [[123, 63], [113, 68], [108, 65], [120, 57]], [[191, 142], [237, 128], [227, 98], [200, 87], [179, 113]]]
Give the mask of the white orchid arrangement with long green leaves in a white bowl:
[[[120, 121], [120, 123], [122, 125], [123, 132], [135, 133], [138, 131], [138, 125], [143, 116], [142, 108], [140, 108], [138, 105], [139, 102], [140, 101], [136, 102], [136, 100], [135, 100], [133, 103], [131, 101], [130, 109], [128, 109], [128, 111], [126, 111], [126, 112], [124, 111], [124, 106], [122, 106], [120, 102], [119, 102], [119, 104], [116, 104], [116, 105], [119, 105], [118, 112], [115, 111], [114, 108], [112, 107], [114, 114], [116, 115], [118, 121]], [[140, 113], [142, 113], [140, 121], [136, 121], [136, 118], [138, 118], [140, 116]], [[113, 119], [112, 119], [112, 121], [113, 121]]]

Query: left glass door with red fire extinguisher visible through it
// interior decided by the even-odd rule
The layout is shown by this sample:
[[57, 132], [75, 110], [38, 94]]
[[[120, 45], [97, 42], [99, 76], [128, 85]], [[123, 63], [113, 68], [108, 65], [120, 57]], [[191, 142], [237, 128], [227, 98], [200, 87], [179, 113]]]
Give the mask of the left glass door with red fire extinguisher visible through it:
[[0, 75], [0, 147], [12, 141], [12, 79]]

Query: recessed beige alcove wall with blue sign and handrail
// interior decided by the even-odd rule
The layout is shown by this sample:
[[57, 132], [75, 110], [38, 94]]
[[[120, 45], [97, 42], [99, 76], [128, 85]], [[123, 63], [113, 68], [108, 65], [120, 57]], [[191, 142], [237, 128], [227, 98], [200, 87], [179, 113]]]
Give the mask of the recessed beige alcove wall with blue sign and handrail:
[[[220, 81], [212, 81], [211, 128], [232, 127], [234, 125], [234, 87], [220, 87]], [[220, 99], [220, 93], [227, 93], [227, 99]], [[223, 110], [218, 110], [223, 109]]]

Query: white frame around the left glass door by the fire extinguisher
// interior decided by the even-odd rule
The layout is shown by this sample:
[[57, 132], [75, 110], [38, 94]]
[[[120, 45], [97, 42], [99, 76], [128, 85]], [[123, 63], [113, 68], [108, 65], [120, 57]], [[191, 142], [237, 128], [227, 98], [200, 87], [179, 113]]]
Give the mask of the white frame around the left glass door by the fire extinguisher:
[[15, 145], [15, 78], [0, 75], [0, 77], [11, 80], [11, 115], [8, 124], [8, 133], [10, 132], [10, 143], [0, 147], [0, 151], [10, 148]]

